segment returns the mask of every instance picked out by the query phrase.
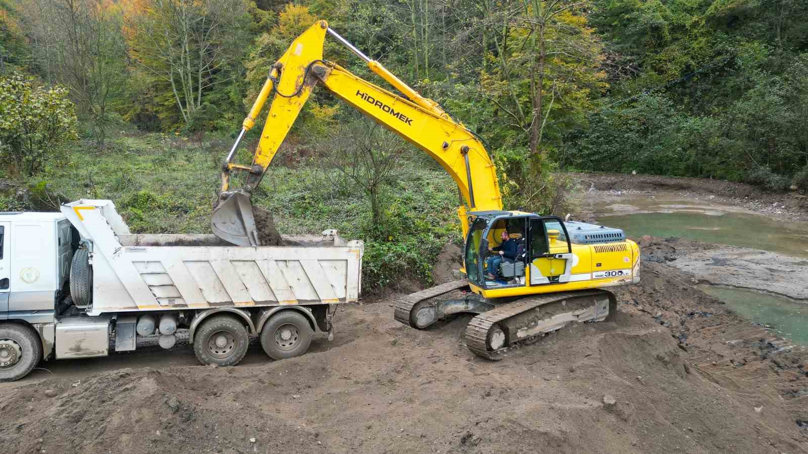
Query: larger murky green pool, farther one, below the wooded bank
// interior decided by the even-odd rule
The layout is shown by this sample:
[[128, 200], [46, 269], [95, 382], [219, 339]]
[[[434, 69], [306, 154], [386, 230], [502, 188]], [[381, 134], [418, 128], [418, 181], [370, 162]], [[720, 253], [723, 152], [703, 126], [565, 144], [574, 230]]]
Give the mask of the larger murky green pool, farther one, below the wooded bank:
[[774, 221], [766, 216], [726, 212], [646, 212], [600, 216], [600, 224], [623, 229], [629, 237], [680, 237], [699, 242], [771, 250], [808, 258], [808, 225]]

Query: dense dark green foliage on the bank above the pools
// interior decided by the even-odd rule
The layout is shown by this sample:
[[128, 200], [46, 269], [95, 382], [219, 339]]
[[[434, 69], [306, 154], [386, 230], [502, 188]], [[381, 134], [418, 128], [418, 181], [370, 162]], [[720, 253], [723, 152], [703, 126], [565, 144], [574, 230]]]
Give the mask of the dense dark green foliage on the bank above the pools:
[[805, 166], [805, 2], [595, 0], [591, 17], [614, 53], [614, 90], [569, 135], [565, 165], [770, 190]]

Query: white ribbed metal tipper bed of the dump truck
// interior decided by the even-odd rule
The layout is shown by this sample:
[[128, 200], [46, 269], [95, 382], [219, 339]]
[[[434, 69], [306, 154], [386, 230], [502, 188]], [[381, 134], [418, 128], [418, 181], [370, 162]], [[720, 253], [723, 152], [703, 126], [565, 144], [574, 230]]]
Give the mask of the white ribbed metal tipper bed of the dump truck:
[[133, 235], [109, 200], [61, 208], [90, 250], [101, 313], [356, 301], [363, 243], [335, 230], [284, 236], [284, 246], [233, 246], [213, 235]]

